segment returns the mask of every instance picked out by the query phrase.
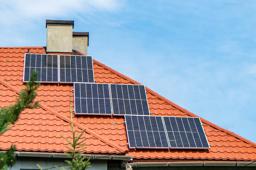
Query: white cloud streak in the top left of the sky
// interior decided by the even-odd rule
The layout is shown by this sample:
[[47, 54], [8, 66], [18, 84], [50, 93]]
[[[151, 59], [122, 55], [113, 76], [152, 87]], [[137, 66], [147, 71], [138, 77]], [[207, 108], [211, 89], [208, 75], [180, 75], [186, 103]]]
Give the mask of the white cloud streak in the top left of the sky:
[[117, 0], [2, 0], [0, 22], [10, 25], [41, 17], [74, 17], [78, 13], [89, 15], [89, 12], [98, 10], [116, 11], [122, 7], [122, 2]]

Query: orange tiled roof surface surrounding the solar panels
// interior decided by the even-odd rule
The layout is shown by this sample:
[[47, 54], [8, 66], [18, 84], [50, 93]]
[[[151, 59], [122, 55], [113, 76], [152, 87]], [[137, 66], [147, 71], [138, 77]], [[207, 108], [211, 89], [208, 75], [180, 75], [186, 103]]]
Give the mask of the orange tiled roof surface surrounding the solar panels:
[[[9, 106], [15, 101], [19, 90], [25, 88], [22, 83], [23, 59], [25, 53], [45, 54], [44, 47], [0, 48], [0, 106]], [[76, 51], [79, 54], [79, 52]], [[94, 78], [96, 83], [139, 84], [94, 60]], [[9, 131], [0, 136], [0, 149], [7, 150], [16, 144], [18, 151], [37, 151], [63, 153], [67, 142], [61, 137], [71, 139], [70, 106], [74, 109], [73, 85], [42, 84], [38, 89], [37, 100], [41, 108], [25, 110], [18, 122]], [[173, 102], [146, 88], [150, 112], [155, 116], [196, 116]], [[209, 150], [129, 150], [124, 125], [120, 116], [74, 116], [77, 132], [86, 129], [83, 138], [87, 144], [86, 153], [131, 155], [132, 159], [150, 159], [150, 161], [200, 161], [234, 160], [255, 161], [256, 144], [230, 131], [222, 129], [201, 118]], [[197, 116], [196, 116], [197, 117]], [[126, 152], [128, 151], [128, 152]], [[170, 160], [171, 159], [171, 160]]]

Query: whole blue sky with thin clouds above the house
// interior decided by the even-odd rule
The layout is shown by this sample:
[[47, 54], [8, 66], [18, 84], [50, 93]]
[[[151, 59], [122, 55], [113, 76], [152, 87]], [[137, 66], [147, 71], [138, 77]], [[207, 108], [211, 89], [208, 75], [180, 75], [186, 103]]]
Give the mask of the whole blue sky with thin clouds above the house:
[[0, 46], [46, 46], [45, 20], [74, 20], [88, 55], [256, 143], [254, 0], [0, 0], [0, 16]]

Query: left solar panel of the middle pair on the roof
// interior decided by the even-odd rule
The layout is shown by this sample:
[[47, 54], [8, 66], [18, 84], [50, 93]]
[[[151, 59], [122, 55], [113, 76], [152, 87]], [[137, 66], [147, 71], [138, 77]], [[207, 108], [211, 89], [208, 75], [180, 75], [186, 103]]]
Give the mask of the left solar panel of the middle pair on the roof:
[[74, 83], [75, 114], [111, 115], [108, 84]]

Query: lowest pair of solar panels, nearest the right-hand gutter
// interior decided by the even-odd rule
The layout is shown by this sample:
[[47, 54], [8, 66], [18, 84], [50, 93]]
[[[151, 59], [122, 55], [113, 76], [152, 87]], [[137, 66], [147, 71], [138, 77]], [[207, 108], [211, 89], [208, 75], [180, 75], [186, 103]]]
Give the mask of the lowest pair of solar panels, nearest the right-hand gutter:
[[200, 118], [125, 115], [129, 148], [207, 149]]

